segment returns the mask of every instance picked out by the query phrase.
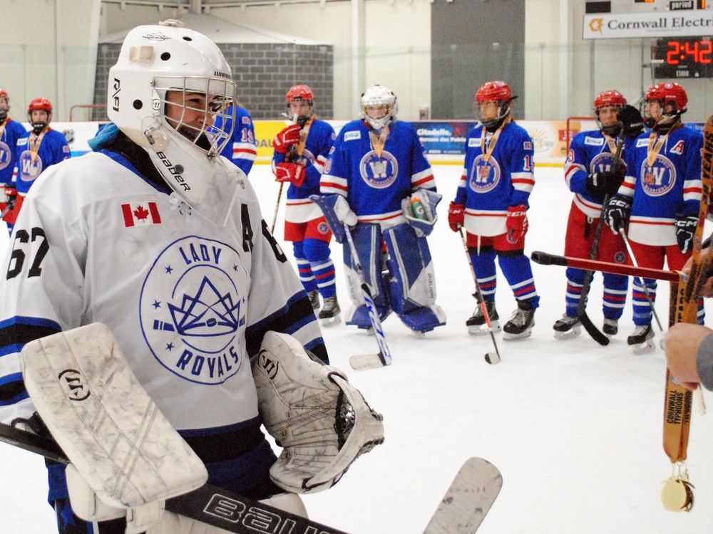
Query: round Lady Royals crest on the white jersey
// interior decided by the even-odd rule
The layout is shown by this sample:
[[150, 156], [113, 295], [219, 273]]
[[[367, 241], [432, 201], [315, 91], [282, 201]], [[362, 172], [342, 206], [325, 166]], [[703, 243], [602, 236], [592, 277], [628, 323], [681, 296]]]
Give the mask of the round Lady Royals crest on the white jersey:
[[154, 357], [179, 377], [222, 384], [243, 365], [247, 272], [231, 246], [188, 236], [151, 266], [139, 300]]

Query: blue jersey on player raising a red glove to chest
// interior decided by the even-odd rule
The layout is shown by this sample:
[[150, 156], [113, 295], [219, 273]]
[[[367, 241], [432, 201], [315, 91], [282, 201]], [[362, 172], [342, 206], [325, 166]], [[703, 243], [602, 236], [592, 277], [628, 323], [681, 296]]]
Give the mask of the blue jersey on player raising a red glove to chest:
[[[322, 216], [322, 210], [309, 200], [309, 195], [319, 194], [319, 179], [322, 178], [324, 164], [327, 163], [329, 150], [336, 137], [334, 128], [329, 125], [329, 122], [315, 119], [309, 125], [302, 155], [297, 156], [297, 159], [293, 161], [293, 163], [304, 165], [304, 182], [300, 187], [289, 184], [287, 204], [284, 209], [285, 221], [303, 223], [319, 219]], [[284, 162], [285, 157], [284, 154], [275, 152], [272, 156], [272, 168], [275, 169], [275, 165]]]

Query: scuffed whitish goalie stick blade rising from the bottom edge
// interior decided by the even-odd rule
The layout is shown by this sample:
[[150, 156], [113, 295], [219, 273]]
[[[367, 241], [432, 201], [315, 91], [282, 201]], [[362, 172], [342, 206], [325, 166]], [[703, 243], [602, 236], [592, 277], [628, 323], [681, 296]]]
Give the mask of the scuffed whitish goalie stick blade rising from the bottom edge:
[[424, 534], [475, 533], [502, 487], [503, 476], [496, 466], [482, 458], [468, 459], [443, 496]]

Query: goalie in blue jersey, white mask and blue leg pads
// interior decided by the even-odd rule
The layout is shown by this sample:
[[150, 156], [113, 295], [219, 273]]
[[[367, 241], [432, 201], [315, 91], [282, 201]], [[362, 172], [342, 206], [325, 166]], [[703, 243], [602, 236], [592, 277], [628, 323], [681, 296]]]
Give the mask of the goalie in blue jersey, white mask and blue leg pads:
[[[381, 320], [393, 310], [411, 330], [426, 333], [446, 323], [436, 305], [426, 243], [441, 196], [416, 130], [396, 120], [396, 95], [374, 85], [361, 95], [361, 106], [361, 119], [342, 127], [322, 174], [324, 201], [333, 206], [324, 214], [340, 243], [345, 236], [342, 224], [353, 227], [356, 253]], [[419, 203], [416, 214], [411, 205]], [[344, 246], [344, 263], [353, 304], [347, 324], [369, 329], [349, 246]]]

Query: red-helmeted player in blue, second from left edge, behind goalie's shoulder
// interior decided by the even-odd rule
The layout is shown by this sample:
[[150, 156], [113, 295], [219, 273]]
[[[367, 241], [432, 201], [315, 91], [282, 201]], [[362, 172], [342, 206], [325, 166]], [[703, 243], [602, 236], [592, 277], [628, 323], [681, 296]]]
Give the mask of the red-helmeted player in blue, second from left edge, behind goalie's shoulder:
[[27, 108], [27, 115], [32, 130], [17, 140], [15, 148], [17, 211], [39, 175], [70, 156], [69, 143], [64, 134], [49, 126], [52, 103], [47, 98], [33, 98]]

